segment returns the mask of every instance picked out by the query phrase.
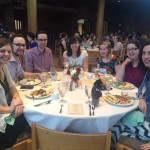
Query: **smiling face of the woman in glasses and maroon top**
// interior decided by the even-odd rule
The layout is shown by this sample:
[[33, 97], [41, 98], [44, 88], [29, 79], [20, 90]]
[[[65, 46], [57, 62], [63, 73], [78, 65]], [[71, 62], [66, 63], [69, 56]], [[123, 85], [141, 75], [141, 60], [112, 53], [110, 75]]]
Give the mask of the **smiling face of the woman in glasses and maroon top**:
[[127, 45], [127, 56], [131, 59], [131, 60], [138, 60], [139, 59], [139, 52], [140, 50], [136, 47], [135, 44], [128, 44]]

